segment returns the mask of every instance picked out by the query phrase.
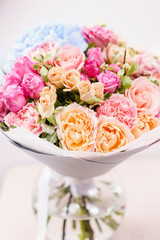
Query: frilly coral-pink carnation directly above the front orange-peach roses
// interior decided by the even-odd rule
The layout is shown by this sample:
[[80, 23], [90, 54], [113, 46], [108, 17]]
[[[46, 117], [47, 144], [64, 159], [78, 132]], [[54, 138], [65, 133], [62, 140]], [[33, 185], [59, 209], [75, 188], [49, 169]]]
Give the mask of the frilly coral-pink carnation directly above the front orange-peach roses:
[[97, 108], [97, 117], [100, 115], [115, 117], [132, 129], [137, 120], [137, 109], [132, 100], [122, 94], [114, 94]]

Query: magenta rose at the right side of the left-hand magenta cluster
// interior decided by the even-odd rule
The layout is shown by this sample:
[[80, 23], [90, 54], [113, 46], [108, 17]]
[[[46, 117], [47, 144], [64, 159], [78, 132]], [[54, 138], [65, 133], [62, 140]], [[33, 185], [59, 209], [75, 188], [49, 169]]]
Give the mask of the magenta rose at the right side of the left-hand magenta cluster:
[[35, 73], [26, 73], [23, 77], [22, 89], [26, 97], [40, 98], [45, 83], [43, 79]]

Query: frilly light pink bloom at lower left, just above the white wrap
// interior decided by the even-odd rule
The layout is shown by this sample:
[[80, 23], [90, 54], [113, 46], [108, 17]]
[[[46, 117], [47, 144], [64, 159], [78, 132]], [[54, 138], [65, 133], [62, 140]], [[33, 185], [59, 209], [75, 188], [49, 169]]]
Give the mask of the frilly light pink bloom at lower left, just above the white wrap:
[[42, 133], [42, 127], [39, 120], [39, 114], [37, 113], [34, 104], [28, 103], [18, 113], [10, 112], [5, 117], [5, 124], [9, 127], [10, 125], [15, 127], [24, 127], [36, 135]]

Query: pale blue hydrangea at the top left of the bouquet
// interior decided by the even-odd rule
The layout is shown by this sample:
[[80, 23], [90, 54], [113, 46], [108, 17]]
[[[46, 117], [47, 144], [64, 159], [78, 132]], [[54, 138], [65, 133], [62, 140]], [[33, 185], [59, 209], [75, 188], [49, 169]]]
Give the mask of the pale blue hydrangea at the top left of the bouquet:
[[82, 51], [85, 51], [88, 46], [79, 25], [50, 22], [29, 29], [19, 36], [13, 47], [13, 57], [23, 56], [26, 48], [39, 45], [48, 37], [58, 41], [60, 45], [72, 44]]

